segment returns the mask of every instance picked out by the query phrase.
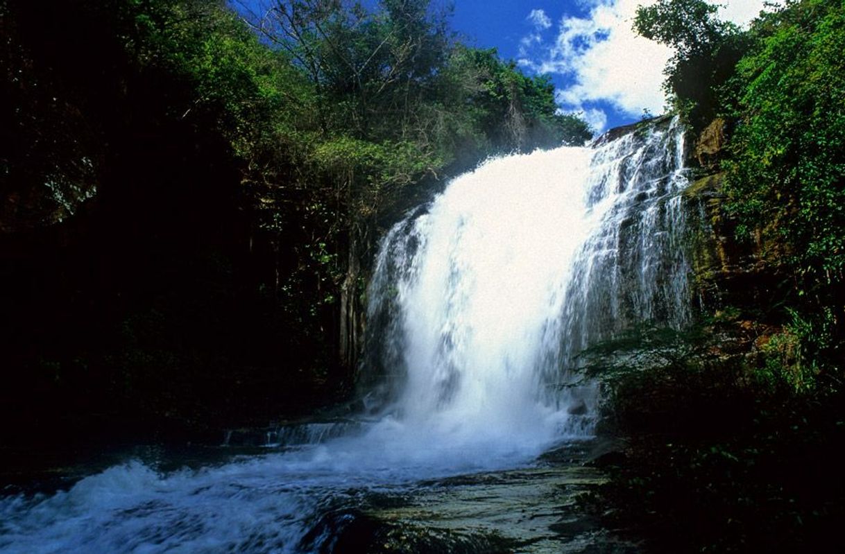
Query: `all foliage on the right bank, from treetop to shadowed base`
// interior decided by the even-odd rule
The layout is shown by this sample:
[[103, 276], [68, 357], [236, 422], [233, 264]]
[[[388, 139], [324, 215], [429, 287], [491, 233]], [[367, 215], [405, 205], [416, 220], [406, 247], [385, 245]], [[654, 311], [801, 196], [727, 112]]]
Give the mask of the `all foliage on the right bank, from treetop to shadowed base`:
[[660, 0], [636, 29], [677, 49], [666, 87], [694, 131], [728, 120], [721, 208], [791, 290], [750, 307], [765, 320], [726, 308], [587, 352], [634, 435], [593, 500], [657, 551], [842, 550], [845, 4], [788, 1], [743, 32], [715, 14]]

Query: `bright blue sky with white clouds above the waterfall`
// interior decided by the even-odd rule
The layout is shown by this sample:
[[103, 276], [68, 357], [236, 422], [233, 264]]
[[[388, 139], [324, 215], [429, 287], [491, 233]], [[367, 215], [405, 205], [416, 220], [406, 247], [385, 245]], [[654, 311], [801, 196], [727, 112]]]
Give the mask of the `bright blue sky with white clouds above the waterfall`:
[[[238, 1], [268, 3], [233, 3]], [[747, 24], [763, 2], [713, 3], [722, 5], [723, 19]], [[654, 0], [454, 0], [451, 24], [472, 46], [495, 47], [526, 73], [550, 75], [561, 111], [580, 114], [602, 132], [664, 109], [662, 69], [672, 52], [631, 30], [637, 6], [650, 3]]]

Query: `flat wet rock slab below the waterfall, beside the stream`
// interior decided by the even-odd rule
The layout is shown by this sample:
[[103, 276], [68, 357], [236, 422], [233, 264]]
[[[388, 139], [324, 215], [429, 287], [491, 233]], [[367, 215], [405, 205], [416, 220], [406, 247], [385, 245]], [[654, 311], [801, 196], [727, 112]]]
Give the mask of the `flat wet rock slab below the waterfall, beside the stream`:
[[335, 514], [341, 529], [330, 551], [633, 554], [635, 543], [578, 503], [606, 482], [587, 460], [608, 455], [608, 444], [568, 443], [537, 467], [424, 481], [401, 499], [370, 496]]

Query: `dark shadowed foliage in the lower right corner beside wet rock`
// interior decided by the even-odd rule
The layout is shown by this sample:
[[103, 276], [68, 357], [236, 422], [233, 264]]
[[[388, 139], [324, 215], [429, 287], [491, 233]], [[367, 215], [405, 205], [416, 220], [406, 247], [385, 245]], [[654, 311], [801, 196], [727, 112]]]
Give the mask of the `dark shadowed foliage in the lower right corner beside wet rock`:
[[813, 331], [796, 317], [764, 337], [730, 312], [683, 332], [639, 330], [583, 355], [608, 388], [605, 425], [630, 439], [608, 459], [608, 484], [581, 502], [655, 551], [841, 544], [842, 395], [807, 401], [822, 388], [802, 351]]

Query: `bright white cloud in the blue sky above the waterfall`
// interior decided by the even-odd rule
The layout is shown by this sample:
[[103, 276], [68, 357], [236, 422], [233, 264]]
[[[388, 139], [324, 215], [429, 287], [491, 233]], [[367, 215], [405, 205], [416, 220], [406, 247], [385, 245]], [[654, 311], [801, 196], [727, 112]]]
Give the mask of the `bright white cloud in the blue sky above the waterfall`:
[[[595, 109], [585, 106], [597, 101], [608, 102], [632, 117], [641, 116], [644, 110], [661, 113], [666, 104], [662, 71], [672, 50], [632, 29], [636, 8], [651, 3], [654, 0], [586, 0], [588, 15], [560, 19], [553, 44], [537, 40], [537, 32], [527, 35], [521, 41], [518, 61], [537, 73], [563, 75], [570, 84], [558, 90], [560, 105], [565, 111], [591, 114], [595, 123], [602, 122], [601, 118], [592, 113]], [[730, 0], [720, 15], [747, 24], [763, 4], [764, 0]], [[532, 10], [528, 19], [539, 28], [539, 22], [547, 21], [548, 16], [542, 10]]]

